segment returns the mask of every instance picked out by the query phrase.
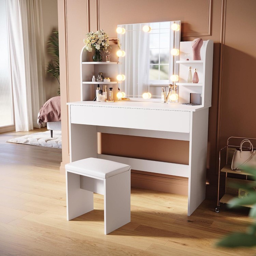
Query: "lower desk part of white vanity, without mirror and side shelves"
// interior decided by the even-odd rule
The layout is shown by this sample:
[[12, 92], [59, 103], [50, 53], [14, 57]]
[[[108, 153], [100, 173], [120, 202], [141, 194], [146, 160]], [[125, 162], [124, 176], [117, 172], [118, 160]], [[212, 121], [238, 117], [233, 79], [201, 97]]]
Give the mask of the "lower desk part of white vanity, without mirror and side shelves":
[[[209, 106], [79, 101], [69, 105], [70, 160], [96, 157], [188, 177], [188, 215], [205, 198]], [[189, 141], [189, 165], [97, 154], [97, 132]]]

